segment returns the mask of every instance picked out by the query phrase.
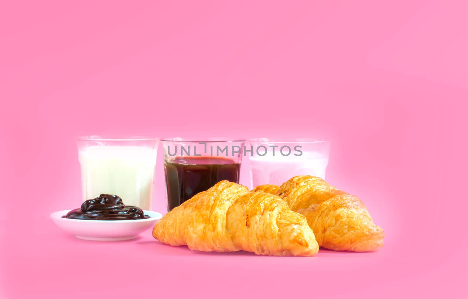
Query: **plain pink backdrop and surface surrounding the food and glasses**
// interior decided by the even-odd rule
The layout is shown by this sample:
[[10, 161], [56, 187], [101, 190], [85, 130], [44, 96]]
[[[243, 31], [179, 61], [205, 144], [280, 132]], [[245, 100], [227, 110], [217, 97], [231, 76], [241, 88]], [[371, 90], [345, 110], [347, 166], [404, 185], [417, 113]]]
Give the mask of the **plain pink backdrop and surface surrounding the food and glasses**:
[[[0, 297], [467, 296], [467, 9], [2, 3]], [[49, 213], [80, 204], [74, 137], [106, 133], [330, 138], [328, 181], [366, 203], [385, 246], [275, 258], [171, 248], [150, 232], [77, 240]], [[156, 168], [164, 212], [161, 151]]]

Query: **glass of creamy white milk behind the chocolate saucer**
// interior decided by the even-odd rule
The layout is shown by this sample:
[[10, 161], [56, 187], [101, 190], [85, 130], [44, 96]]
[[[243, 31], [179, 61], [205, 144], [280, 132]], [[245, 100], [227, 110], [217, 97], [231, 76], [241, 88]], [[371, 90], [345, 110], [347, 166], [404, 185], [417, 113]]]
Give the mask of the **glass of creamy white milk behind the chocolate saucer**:
[[125, 205], [151, 210], [159, 139], [85, 136], [76, 142], [83, 201], [114, 194]]

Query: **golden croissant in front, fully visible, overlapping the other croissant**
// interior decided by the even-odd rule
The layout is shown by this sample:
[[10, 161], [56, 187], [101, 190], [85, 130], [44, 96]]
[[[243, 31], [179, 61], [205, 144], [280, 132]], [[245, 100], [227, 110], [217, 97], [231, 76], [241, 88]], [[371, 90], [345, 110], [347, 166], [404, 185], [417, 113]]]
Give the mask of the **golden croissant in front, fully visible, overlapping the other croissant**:
[[153, 237], [200, 251], [312, 256], [319, 249], [305, 217], [291, 211], [285, 201], [229, 181], [168, 212], [154, 226]]

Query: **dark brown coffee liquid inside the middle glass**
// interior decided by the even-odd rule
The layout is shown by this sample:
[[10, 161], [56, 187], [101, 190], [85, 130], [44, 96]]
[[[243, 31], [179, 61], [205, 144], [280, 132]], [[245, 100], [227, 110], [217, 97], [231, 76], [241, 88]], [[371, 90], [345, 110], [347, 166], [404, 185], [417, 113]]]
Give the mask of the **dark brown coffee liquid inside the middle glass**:
[[239, 183], [241, 163], [224, 157], [175, 157], [164, 162], [168, 211], [217, 182]]

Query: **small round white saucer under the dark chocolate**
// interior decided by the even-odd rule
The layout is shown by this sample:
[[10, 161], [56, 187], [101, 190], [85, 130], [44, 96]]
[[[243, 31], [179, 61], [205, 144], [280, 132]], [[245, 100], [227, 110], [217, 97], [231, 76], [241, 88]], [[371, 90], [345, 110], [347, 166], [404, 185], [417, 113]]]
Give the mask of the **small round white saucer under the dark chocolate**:
[[135, 239], [140, 233], [152, 228], [161, 219], [161, 213], [146, 211], [148, 219], [135, 220], [82, 220], [62, 218], [71, 210], [51, 213], [57, 226], [78, 239], [92, 241], [123, 241]]

